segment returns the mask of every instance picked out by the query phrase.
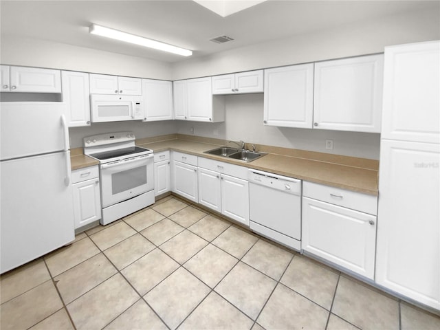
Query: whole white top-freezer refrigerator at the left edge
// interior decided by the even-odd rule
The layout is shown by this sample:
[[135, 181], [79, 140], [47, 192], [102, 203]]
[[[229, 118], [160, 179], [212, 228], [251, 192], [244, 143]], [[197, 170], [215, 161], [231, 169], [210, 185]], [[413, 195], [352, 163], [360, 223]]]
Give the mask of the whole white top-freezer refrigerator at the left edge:
[[64, 107], [0, 103], [0, 273], [74, 240]]

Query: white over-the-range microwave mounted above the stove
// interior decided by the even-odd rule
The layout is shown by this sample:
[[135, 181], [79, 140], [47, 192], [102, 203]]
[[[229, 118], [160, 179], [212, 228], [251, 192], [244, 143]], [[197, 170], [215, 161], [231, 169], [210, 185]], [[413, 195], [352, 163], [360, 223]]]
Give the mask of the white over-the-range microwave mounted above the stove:
[[91, 122], [142, 120], [142, 96], [91, 94]]

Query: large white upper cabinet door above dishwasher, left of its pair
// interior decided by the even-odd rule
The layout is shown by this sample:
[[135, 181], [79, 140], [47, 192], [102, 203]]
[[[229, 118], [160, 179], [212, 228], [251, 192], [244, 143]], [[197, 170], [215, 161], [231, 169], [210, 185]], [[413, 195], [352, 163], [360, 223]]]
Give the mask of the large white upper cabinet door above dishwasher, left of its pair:
[[264, 124], [311, 129], [314, 65], [292, 65], [264, 72]]

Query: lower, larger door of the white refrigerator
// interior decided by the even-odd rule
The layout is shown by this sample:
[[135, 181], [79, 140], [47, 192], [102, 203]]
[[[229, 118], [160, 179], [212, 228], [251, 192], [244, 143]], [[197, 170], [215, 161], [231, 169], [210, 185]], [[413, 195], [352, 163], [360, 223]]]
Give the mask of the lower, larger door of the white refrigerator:
[[0, 272], [74, 240], [69, 152], [0, 162]]

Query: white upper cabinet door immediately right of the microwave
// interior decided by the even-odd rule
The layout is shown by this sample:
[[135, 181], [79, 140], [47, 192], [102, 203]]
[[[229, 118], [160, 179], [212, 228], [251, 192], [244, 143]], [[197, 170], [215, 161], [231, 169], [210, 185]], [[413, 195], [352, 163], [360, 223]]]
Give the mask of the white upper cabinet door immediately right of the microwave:
[[146, 122], [173, 120], [173, 85], [170, 81], [142, 79]]

